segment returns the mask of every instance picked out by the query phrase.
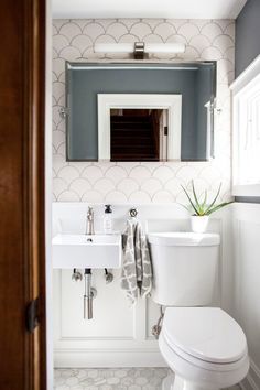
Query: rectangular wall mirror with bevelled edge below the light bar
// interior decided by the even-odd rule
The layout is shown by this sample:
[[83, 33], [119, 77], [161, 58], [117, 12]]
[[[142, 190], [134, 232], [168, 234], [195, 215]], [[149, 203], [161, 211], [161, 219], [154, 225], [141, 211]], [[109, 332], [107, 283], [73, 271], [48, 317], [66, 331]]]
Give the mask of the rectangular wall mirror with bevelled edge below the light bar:
[[[67, 62], [67, 161], [207, 161], [215, 96], [215, 62]], [[127, 117], [144, 127], [155, 116], [159, 129], [150, 123], [147, 137], [143, 129], [128, 131], [129, 123], [116, 130]]]

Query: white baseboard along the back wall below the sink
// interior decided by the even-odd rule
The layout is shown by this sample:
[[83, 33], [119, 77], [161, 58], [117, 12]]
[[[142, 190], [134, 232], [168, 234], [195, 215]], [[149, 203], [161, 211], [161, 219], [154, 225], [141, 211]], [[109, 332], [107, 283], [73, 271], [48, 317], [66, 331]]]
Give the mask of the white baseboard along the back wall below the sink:
[[167, 367], [158, 350], [55, 350], [55, 368]]

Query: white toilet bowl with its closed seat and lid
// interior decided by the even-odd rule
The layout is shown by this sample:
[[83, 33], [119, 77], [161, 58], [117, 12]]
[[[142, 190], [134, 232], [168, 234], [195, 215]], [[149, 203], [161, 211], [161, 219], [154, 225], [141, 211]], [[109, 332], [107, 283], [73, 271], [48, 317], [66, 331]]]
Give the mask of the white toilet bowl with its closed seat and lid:
[[166, 308], [159, 347], [174, 372], [163, 390], [227, 388], [249, 369], [246, 336], [218, 307]]

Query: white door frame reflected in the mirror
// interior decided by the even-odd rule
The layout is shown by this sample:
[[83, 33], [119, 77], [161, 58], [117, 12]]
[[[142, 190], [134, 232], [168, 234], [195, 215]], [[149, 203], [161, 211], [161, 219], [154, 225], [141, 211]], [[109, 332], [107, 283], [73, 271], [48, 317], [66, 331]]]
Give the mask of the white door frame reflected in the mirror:
[[98, 160], [110, 161], [110, 109], [167, 109], [167, 160], [181, 160], [182, 95], [98, 94]]

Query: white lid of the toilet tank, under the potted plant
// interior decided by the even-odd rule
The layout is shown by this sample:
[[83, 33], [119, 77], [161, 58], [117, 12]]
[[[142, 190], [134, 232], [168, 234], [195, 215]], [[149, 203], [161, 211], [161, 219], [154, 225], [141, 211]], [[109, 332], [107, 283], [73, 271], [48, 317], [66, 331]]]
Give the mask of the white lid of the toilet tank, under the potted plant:
[[220, 236], [213, 232], [164, 231], [150, 232], [148, 240], [152, 245], [173, 247], [207, 247], [220, 243]]

